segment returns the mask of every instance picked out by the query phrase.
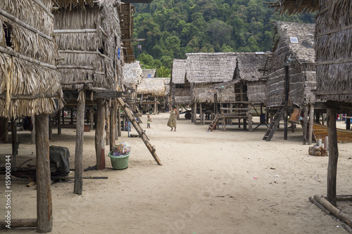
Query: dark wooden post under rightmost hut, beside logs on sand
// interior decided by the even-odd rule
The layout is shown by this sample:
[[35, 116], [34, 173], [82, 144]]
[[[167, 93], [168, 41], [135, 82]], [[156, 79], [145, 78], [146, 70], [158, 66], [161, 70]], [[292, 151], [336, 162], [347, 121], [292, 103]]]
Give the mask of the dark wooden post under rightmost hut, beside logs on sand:
[[327, 136], [329, 137], [329, 164], [327, 166], [327, 200], [336, 206], [337, 148], [336, 109], [327, 109]]

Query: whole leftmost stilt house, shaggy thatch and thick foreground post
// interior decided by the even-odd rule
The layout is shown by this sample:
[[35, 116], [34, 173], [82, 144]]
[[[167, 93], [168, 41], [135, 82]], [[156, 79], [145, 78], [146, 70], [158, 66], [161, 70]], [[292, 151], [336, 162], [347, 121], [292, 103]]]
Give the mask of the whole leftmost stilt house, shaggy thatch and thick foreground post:
[[15, 118], [35, 115], [37, 219], [30, 226], [39, 233], [52, 230], [48, 114], [63, 106], [51, 8], [51, 0], [0, 1], [0, 117], [13, 124], [13, 156], [6, 162], [16, 169]]

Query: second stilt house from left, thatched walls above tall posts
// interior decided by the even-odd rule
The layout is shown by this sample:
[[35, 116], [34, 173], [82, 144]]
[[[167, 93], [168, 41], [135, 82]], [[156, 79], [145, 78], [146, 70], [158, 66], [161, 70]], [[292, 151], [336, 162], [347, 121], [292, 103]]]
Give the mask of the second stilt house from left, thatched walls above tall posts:
[[[91, 113], [96, 105], [97, 169], [105, 168], [105, 140], [111, 147], [115, 144], [115, 98], [121, 94], [123, 61], [118, 4], [117, 0], [54, 1], [54, 34], [61, 54], [58, 72], [66, 103], [77, 105], [75, 160], [82, 160], [86, 103]], [[82, 167], [82, 162], [75, 167]], [[82, 173], [82, 168], [75, 168], [75, 176], [77, 171]], [[75, 193], [80, 194], [78, 178]]]

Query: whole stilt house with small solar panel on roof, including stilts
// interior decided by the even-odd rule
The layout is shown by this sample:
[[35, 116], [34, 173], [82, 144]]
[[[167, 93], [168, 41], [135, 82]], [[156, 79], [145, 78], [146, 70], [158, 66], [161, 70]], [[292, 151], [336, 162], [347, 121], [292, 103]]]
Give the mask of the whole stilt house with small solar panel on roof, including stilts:
[[[307, 136], [308, 107], [313, 118], [315, 103], [316, 73], [314, 51], [314, 24], [296, 22], [276, 22], [275, 46], [268, 62], [268, 112], [274, 117], [270, 126], [270, 136], [267, 132], [263, 139], [270, 141], [279, 120], [290, 108], [300, 108], [304, 111], [303, 142], [308, 142]], [[287, 113], [284, 121], [287, 119]], [[286, 129], [286, 127], [285, 127]], [[286, 138], [286, 133], [285, 133]], [[310, 140], [311, 141], [311, 140]]]

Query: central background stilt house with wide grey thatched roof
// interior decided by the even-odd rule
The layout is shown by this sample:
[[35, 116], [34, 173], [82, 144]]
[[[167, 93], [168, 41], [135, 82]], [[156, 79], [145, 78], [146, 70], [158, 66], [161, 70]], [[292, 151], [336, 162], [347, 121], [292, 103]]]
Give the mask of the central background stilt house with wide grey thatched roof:
[[[197, 105], [199, 104], [200, 122], [204, 123], [203, 108], [213, 110], [214, 96], [208, 89], [214, 84], [230, 82], [234, 79], [236, 68], [235, 53], [186, 53], [187, 80], [190, 83], [193, 121], [196, 124]], [[203, 106], [202, 106], [203, 105]]]

